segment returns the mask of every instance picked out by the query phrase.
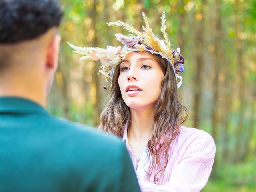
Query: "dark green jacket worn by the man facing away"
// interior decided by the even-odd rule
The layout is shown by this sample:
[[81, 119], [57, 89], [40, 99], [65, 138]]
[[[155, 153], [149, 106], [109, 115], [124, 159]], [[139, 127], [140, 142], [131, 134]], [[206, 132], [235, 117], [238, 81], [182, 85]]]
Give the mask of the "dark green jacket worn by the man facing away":
[[0, 98], [0, 192], [140, 191], [124, 143]]

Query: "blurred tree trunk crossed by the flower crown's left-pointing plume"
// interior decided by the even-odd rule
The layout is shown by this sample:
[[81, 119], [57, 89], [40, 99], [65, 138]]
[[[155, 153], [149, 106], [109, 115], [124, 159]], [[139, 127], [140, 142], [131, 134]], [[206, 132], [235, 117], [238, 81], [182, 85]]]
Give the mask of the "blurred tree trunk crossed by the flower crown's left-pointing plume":
[[[97, 23], [97, 18], [98, 18], [98, 13], [96, 10], [97, 6], [97, 0], [93, 0], [93, 6], [92, 10], [90, 13], [90, 17], [92, 19], [92, 30], [94, 31], [94, 38], [92, 40], [92, 46], [98, 46], [98, 39], [97, 39], [97, 29], [96, 29], [96, 23]], [[99, 123], [99, 117], [100, 117], [100, 102], [101, 102], [101, 96], [100, 96], [100, 81], [98, 77], [98, 71], [99, 71], [99, 66], [98, 62], [94, 65], [94, 68], [92, 70], [92, 84], [90, 85], [90, 89], [93, 89], [92, 92], [95, 92], [95, 102], [93, 103], [94, 107], [94, 114], [93, 114], [93, 121], [94, 121], [94, 126], [98, 125]], [[92, 98], [91, 98], [92, 100]]]

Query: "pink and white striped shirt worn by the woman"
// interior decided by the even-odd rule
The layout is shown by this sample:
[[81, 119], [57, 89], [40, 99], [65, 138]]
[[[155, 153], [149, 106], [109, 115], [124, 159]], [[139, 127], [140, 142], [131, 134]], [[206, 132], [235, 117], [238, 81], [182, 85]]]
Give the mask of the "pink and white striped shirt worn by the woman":
[[[146, 147], [139, 162], [128, 144], [127, 131], [124, 131], [128, 152], [142, 192], [199, 192], [210, 176], [216, 147], [210, 134], [195, 128], [182, 126], [180, 134], [170, 146], [168, 164], [161, 185], [154, 180], [145, 181], [149, 167]], [[153, 172], [153, 177], [155, 173]]]

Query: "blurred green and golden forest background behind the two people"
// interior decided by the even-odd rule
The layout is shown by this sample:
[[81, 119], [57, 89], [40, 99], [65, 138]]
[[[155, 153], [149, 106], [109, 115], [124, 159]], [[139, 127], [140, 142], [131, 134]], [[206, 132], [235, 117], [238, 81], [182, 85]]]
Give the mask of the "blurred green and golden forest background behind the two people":
[[60, 0], [65, 16], [59, 67], [48, 98], [54, 115], [97, 126], [109, 86], [99, 62], [79, 61], [66, 41], [117, 46], [122, 20], [141, 30], [145, 12], [157, 36], [166, 12], [172, 48], [180, 47], [185, 73], [180, 96], [190, 110], [186, 126], [210, 133], [216, 160], [204, 192], [256, 191], [256, 1], [255, 0]]

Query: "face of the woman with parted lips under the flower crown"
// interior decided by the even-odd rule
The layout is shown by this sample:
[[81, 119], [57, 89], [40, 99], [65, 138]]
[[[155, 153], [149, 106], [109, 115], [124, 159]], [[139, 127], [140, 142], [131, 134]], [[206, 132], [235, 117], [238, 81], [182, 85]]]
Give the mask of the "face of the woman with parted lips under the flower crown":
[[120, 64], [118, 84], [122, 98], [132, 109], [154, 107], [164, 78], [158, 62], [147, 52], [131, 52]]

